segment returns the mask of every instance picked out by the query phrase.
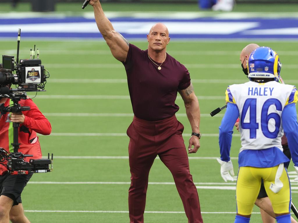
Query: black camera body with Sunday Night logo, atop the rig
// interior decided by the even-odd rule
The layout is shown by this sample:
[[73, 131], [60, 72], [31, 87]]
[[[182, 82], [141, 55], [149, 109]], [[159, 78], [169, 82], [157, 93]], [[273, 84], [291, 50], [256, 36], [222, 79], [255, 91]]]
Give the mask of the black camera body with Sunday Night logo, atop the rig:
[[16, 84], [28, 91], [44, 89], [46, 76], [41, 59], [20, 59], [16, 62], [14, 56], [2, 55], [3, 69], [0, 72], [0, 87]]

